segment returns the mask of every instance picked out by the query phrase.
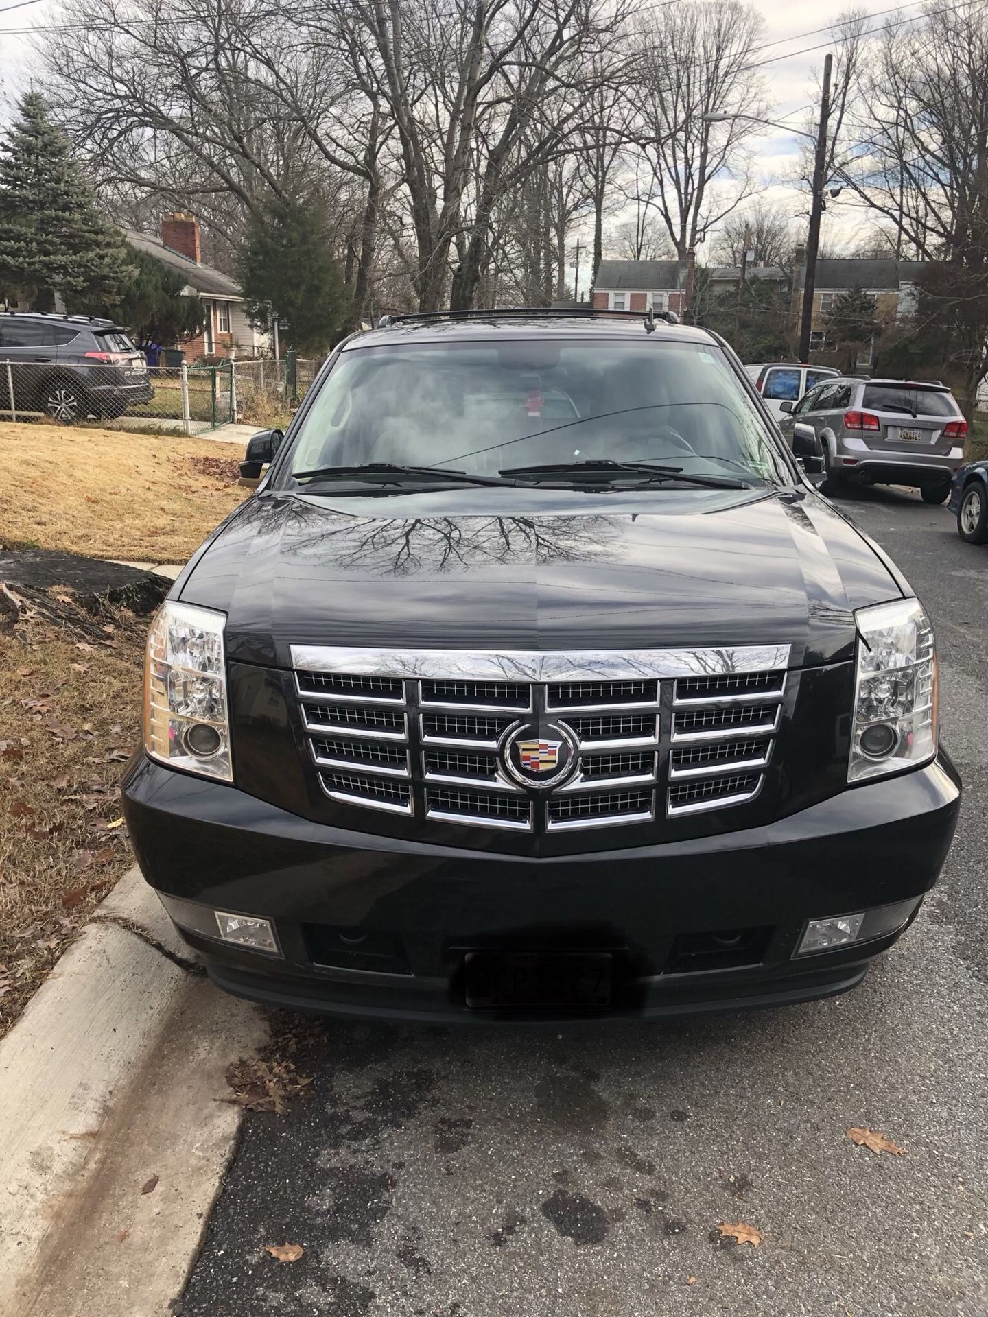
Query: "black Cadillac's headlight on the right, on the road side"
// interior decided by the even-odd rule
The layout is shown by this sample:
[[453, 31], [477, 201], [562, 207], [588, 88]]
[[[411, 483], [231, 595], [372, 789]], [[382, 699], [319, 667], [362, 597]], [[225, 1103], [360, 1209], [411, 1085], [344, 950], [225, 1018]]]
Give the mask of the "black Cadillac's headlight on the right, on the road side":
[[847, 781], [916, 768], [937, 753], [937, 651], [917, 599], [855, 612], [858, 678]]

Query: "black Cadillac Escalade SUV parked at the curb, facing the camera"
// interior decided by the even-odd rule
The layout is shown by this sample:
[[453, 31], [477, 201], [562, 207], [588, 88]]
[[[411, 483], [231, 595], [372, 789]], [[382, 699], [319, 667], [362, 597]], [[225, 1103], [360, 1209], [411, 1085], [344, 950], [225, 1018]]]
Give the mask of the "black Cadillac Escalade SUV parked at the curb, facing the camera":
[[149, 636], [126, 818], [215, 981], [440, 1021], [858, 984], [960, 784], [926, 614], [814, 445], [671, 320], [346, 340]]

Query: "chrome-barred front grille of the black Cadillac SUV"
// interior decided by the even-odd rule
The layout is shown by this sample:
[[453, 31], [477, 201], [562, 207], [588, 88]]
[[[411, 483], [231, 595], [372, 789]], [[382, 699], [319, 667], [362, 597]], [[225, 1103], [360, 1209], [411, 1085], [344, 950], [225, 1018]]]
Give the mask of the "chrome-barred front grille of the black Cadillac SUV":
[[[527, 832], [643, 824], [754, 799], [788, 657], [788, 647], [501, 656], [292, 647], [302, 720], [331, 799]], [[526, 778], [506, 763], [508, 743], [530, 738], [522, 749], [537, 755], [556, 732], [573, 763], [548, 789], [532, 776], [543, 769], [528, 765]]]

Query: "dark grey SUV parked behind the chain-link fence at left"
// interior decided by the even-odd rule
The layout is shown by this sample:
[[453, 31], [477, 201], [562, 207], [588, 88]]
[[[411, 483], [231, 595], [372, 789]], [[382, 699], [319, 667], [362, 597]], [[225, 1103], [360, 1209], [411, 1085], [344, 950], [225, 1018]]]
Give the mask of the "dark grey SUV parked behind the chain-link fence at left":
[[[7, 371], [9, 362], [11, 370]], [[126, 329], [92, 316], [0, 313], [0, 410], [55, 420], [121, 416], [154, 396]]]

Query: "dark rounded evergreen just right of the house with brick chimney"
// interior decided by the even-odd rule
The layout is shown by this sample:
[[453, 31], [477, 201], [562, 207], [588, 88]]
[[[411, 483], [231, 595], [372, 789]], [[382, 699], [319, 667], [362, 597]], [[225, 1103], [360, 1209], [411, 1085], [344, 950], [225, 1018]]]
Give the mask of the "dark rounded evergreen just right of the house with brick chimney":
[[240, 255], [248, 315], [269, 331], [274, 316], [287, 321], [286, 341], [303, 354], [325, 352], [353, 316], [332, 250], [317, 199], [277, 200], [252, 221]]

